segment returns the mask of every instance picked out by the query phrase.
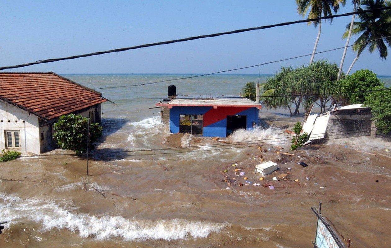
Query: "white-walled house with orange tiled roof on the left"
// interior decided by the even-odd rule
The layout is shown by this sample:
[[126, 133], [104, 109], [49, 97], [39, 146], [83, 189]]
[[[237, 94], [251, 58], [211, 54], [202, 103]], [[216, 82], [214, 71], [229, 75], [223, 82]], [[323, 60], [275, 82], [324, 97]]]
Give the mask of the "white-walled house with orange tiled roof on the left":
[[74, 113], [100, 123], [102, 94], [48, 73], [0, 73], [0, 150], [40, 154], [56, 148], [54, 123]]

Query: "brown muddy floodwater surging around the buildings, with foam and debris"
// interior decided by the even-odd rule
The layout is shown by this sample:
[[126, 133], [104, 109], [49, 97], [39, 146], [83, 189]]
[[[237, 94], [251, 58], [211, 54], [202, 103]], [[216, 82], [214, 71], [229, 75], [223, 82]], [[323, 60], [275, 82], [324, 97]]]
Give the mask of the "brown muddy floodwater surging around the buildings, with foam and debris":
[[[291, 152], [276, 126], [301, 118], [262, 110], [264, 127], [213, 140], [169, 134], [158, 110], [118, 106], [104, 105], [89, 176], [86, 157], [70, 151], [0, 163], [0, 247], [313, 247], [319, 202], [350, 247], [391, 247], [389, 142], [338, 138]], [[264, 180], [261, 157], [279, 164]]]

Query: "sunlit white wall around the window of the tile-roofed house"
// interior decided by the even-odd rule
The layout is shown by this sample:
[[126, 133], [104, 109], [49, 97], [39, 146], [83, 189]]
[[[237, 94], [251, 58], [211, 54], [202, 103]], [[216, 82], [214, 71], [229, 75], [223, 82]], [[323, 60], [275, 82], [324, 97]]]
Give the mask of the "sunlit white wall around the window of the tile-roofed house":
[[[19, 130], [20, 152], [41, 153], [38, 117], [0, 100], [0, 150], [5, 149], [5, 130]], [[10, 149], [11, 150], [11, 149]]]

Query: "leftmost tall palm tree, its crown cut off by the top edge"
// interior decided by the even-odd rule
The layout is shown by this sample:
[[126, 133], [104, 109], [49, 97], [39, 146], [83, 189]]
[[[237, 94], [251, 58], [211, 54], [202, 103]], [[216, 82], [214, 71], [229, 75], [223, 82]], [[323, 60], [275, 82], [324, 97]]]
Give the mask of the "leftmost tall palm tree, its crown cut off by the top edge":
[[[296, 0], [296, 4], [298, 5], [297, 11], [303, 17], [308, 12], [308, 19], [320, 18], [323, 16], [331, 16], [332, 11], [337, 13], [339, 10], [339, 4], [345, 5], [346, 0]], [[314, 61], [314, 56], [316, 52], [317, 43], [319, 41], [320, 32], [321, 32], [321, 20], [312, 21], [315, 27], [319, 27], [318, 35], [315, 41], [314, 51], [312, 52], [310, 64]], [[331, 22], [331, 20], [330, 20]], [[311, 22], [308, 22], [310, 25]]]

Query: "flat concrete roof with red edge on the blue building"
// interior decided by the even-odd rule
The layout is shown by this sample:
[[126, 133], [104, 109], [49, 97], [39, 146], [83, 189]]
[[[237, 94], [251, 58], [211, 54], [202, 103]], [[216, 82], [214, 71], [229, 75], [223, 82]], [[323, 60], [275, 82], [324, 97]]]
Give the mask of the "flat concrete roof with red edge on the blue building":
[[199, 98], [199, 99], [187, 99], [187, 98], [175, 98], [170, 102], [158, 102], [157, 107], [168, 107], [171, 109], [173, 106], [194, 106], [194, 107], [256, 107], [261, 109], [262, 105], [247, 98]]

